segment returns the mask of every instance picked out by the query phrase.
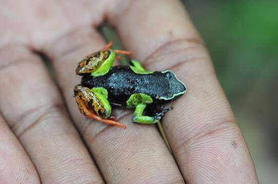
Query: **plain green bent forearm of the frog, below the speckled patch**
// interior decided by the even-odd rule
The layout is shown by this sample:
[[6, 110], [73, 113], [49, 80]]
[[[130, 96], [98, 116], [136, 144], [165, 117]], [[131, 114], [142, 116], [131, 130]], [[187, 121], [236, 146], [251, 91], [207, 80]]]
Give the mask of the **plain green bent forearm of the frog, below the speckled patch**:
[[133, 123], [141, 123], [141, 124], [154, 124], [159, 120], [154, 119], [154, 117], [143, 116], [144, 109], [146, 108], [146, 104], [138, 104], [135, 107], [135, 111], [132, 116]]

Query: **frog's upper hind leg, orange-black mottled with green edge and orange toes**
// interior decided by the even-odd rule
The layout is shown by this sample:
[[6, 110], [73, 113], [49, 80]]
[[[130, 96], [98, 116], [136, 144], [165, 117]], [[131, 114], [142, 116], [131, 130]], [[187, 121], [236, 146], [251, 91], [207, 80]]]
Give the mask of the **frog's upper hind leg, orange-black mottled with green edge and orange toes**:
[[108, 73], [112, 67], [116, 54], [130, 55], [129, 51], [110, 49], [112, 42], [109, 42], [104, 49], [86, 56], [78, 62], [75, 73], [77, 75], [91, 74], [94, 77]]

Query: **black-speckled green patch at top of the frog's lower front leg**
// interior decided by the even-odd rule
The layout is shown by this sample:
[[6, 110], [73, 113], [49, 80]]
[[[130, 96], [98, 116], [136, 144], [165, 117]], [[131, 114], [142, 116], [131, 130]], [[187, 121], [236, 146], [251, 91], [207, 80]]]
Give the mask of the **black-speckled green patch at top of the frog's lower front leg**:
[[138, 104], [150, 104], [152, 103], [152, 98], [145, 94], [133, 94], [127, 100], [127, 108], [134, 108]]

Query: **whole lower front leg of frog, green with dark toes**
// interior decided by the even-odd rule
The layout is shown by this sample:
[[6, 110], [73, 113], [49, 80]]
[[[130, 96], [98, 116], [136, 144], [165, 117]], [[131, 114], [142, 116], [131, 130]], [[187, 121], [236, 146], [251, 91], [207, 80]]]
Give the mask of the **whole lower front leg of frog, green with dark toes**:
[[147, 104], [151, 104], [152, 98], [145, 94], [133, 94], [127, 100], [127, 107], [133, 108], [135, 107], [132, 122], [133, 123], [141, 123], [141, 124], [154, 124], [160, 121], [162, 116], [172, 108], [164, 109], [161, 112], [157, 112], [154, 116], [144, 116], [143, 112], [147, 106]]

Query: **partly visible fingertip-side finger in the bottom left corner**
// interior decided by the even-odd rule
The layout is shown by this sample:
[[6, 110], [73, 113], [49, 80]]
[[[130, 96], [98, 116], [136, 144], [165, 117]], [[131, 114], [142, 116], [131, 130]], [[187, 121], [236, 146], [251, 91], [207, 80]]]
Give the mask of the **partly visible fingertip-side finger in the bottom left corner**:
[[2, 117], [0, 135], [0, 183], [39, 183], [33, 163]]

